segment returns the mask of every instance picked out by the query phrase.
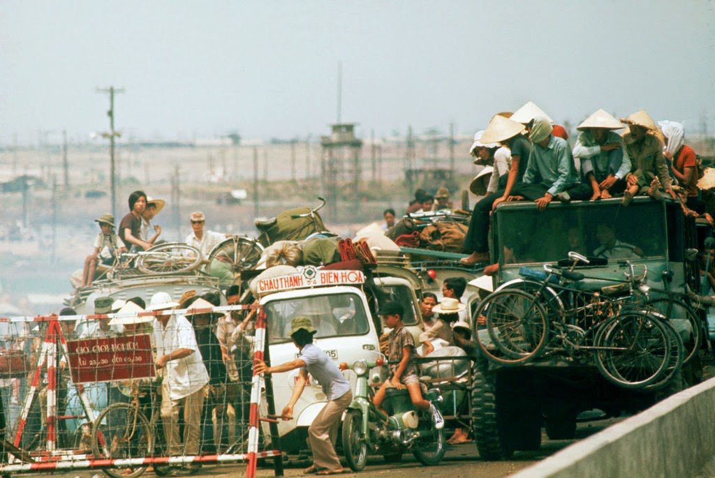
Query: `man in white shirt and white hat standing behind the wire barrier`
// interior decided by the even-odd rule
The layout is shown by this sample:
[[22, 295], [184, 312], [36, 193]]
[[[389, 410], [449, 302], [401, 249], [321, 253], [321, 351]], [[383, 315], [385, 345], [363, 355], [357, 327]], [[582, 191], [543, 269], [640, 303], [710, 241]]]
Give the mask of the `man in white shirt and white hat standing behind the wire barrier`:
[[[177, 307], [166, 292], [157, 292], [147, 310]], [[199, 452], [204, 387], [209, 382], [194, 329], [183, 315], [164, 313], [154, 318], [154, 345], [157, 370], [163, 370], [162, 422], [169, 455], [182, 454], [179, 437], [179, 410], [184, 407], [183, 454]]]

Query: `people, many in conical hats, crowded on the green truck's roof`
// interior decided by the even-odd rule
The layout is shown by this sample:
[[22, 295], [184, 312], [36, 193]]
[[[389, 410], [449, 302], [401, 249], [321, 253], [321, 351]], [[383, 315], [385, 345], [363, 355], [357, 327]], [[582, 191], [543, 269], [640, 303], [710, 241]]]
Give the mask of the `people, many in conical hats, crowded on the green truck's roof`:
[[[463, 249], [468, 257], [462, 264], [492, 262], [490, 213], [504, 201], [533, 201], [543, 211], [554, 200], [620, 197], [628, 206], [635, 196], [669, 197], [682, 204], [686, 215], [702, 216], [713, 224], [697, 186], [702, 166], [694, 149], [685, 144], [682, 124], [656, 123], [645, 110], [616, 119], [598, 109], [576, 129], [572, 147], [568, 131], [529, 101], [513, 113], [495, 114], [475, 134], [469, 153], [474, 164], [488, 170], [470, 184], [470, 190], [483, 197], [472, 211]], [[451, 208], [449, 195], [445, 187], [434, 197], [417, 189], [406, 214]], [[437, 201], [438, 196], [446, 199]]]

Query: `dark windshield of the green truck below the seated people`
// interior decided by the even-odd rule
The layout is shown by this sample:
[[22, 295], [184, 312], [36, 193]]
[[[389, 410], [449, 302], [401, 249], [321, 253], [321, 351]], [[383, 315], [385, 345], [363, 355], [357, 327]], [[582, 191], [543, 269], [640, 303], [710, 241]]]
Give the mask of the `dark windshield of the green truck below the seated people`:
[[501, 264], [556, 262], [569, 251], [611, 260], [663, 258], [668, 250], [661, 203], [584, 201], [570, 206], [505, 207], [494, 238]]

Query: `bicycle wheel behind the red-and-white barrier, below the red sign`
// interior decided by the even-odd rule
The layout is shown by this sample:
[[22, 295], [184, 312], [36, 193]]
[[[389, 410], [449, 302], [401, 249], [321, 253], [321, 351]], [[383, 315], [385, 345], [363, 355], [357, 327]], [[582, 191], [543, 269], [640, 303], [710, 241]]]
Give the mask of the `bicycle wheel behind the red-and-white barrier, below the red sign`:
[[[107, 459], [152, 456], [154, 436], [149, 420], [132, 404], [115, 403], [102, 410], [92, 425], [94, 456]], [[147, 465], [102, 469], [112, 478], [136, 478]]]

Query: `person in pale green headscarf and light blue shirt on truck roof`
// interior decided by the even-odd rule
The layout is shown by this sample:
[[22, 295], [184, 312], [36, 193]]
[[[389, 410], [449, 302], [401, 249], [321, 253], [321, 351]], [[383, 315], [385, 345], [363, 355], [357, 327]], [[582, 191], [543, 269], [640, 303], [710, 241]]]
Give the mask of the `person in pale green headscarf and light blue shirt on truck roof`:
[[529, 132], [531, 155], [522, 184], [513, 193], [536, 202], [539, 211], [546, 209], [554, 198], [568, 202], [591, 196], [591, 188], [576, 174], [571, 146], [565, 139], [553, 136], [552, 130], [548, 118], [533, 119]]

